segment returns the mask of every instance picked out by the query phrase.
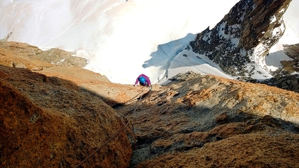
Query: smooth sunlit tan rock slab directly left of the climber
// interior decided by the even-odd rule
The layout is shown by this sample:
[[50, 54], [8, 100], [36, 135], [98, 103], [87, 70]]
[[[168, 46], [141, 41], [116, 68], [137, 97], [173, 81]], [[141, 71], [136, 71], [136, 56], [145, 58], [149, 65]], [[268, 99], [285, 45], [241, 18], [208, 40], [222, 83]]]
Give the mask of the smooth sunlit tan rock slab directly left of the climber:
[[57, 76], [67, 81], [72, 81], [76, 85], [101, 96], [101, 99], [109, 106], [117, 106], [120, 103], [134, 101], [141, 96], [141, 92], [149, 90], [142, 87], [134, 87], [134, 85], [120, 85], [111, 83], [106, 76], [91, 72], [81, 67], [49, 67], [39, 71], [40, 74], [47, 76]]

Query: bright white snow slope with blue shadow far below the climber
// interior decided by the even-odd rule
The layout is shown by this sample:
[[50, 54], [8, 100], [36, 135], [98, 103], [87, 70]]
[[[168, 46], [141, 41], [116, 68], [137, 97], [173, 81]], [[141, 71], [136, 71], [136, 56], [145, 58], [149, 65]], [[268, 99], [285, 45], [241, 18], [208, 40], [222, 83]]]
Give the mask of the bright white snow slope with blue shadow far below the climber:
[[[237, 2], [1, 0], [0, 38], [43, 50], [72, 51], [88, 58], [86, 69], [114, 83], [133, 84], [141, 73], [152, 83], [163, 83], [165, 77], [189, 70], [230, 78], [209, 59], [185, 48], [196, 33], [215, 26]], [[289, 27], [283, 44], [299, 39], [298, 22], [293, 22], [298, 6], [298, 0], [293, 0], [285, 14]], [[272, 53], [280, 50], [275, 47]], [[277, 67], [280, 59], [273, 54], [266, 61]]]

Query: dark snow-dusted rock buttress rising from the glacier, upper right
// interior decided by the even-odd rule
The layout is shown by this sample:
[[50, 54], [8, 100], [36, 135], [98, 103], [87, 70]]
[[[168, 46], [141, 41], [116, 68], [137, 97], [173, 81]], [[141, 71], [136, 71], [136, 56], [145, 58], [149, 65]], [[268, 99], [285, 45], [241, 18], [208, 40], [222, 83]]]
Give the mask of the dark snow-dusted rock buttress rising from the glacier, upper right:
[[213, 29], [197, 35], [191, 42], [193, 51], [206, 55], [235, 78], [270, 78], [265, 56], [284, 33], [282, 15], [290, 2], [236, 3]]

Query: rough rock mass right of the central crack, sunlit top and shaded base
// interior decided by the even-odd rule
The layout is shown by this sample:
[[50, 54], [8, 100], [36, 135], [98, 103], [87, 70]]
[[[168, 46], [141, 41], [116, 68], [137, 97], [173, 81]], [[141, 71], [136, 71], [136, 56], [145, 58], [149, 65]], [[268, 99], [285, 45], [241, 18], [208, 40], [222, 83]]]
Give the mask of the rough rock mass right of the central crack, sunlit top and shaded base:
[[193, 72], [119, 107], [131, 167], [299, 167], [299, 94]]

